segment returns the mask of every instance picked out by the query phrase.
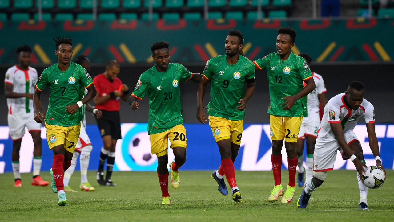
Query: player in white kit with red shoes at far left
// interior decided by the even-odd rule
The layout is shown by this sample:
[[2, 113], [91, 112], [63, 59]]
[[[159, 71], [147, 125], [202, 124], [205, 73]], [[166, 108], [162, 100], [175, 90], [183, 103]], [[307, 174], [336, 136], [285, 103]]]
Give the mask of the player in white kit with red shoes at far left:
[[[34, 121], [33, 92], [37, 82], [37, 70], [30, 67], [32, 49], [28, 45], [17, 49], [19, 64], [9, 68], [4, 79], [5, 95], [8, 105], [9, 137], [13, 140], [12, 169], [14, 171], [14, 186], [22, 186], [19, 172], [19, 151], [25, 127], [32, 135], [33, 148], [33, 186], [47, 186], [49, 183], [40, 177], [41, 158], [41, 124]], [[43, 106], [39, 109], [44, 112]], [[43, 114], [45, 115], [45, 114]]]

